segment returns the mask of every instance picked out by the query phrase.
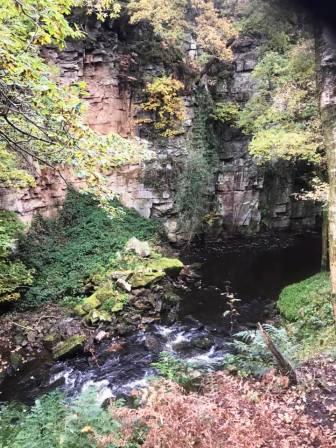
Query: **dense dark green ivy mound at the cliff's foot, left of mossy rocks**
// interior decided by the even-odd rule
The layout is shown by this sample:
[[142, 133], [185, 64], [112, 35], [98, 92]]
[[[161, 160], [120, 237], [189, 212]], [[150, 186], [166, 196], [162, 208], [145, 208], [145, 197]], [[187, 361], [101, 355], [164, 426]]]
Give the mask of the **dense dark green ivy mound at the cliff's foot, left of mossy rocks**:
[[26, 304], [83, 296], [90, 277], [118, 265], [128, 239], [155, 237], [155, 222], [113, 204], [111, 217], [91, 195], [70, 191], [57, 219], [35, 219], [20, 244], [22, 260], [36, 270]]

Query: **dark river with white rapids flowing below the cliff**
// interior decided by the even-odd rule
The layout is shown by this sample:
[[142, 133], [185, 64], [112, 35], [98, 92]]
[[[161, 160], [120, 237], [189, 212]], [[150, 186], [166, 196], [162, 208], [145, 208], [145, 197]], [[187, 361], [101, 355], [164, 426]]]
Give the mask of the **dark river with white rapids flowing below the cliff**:
[[68, 394], [91, 384], [101, 400], [127, 395], [146, 384], [155, 374], [151, 364], [162, 351], [212, 370], [221, 365], [230, 350], [228, 293], [239, 299], [236, 328], [253, 327], [267, 318], [281, 289], [319, 271], [320, 240], [316, 236], [296, 238], [288, 244], [233, 240], [206, 251], [184, 254], [187, 263], [199, 262], [199, 278], [190, 287], [181, 285], [183, 298], [178, 321], [153, 325], [146, 332], [117, 340], [106, 340], [96, 358], [77, 358], [52, 363], [41, 358], [24, 367], [1, 385], [1, 400], [31, 402], [56, 387]]

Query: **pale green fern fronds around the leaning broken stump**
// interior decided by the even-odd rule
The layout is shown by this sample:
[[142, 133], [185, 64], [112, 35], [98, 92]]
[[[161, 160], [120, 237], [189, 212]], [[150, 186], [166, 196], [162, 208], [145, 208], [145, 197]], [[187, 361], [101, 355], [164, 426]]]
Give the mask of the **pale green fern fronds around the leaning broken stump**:
[[[295, 364], [299, 347], [286, 329], [264, 325], [273, 342], [287, 360]], [[265, 345], [259, 330], [241, 331], [234, 335], [231, 343], [234, 354], [224, 358], [224, 367], [237, 371], [242, 376], [260, 376], [271, 367], [276, 367], [274, 358]]]

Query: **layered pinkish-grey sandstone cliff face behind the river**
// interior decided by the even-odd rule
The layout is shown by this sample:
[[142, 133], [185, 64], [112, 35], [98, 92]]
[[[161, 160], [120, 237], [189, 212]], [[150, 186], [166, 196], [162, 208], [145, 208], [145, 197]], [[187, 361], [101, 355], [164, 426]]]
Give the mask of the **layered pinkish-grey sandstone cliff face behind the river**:
[[[226, 2], [231, 17], [234, 18], [244, 2]], [[44, 55], [60, 67], [62, 82], [86, 81], [89, 91], [87, 122], [93, 129], [103, 134], [118, 132], [126, 137], [150, 140], [147, 129], [137, 124], [142, 116], [138, 106], [143, 99], [145, 80], [167, 73], [169, 64], [150, 57], [147, 50], [144, 52], [145, 47], [141, 47], [141, 42], [146, 40], [143, 30], [128, 29], [127, 24], [123, 26], [125, 29], [120, 30], [91, 24], [89, 38], [85, 41], [69, 43], [62, 52], [45, 49]], [[214, 67], [206, 75], [213, 100], [244, 104], [249, 99], [254, 88], [251, 74], [258, 61], [260, 44], [250, 37], [239, 37], [233, 42], [233, 62]], [[196, 51], [194, 47], [192, 43], [191, 56]], [[110, 188], [120, 195], [124, 205], [135, 208], [145, 217], [159, 218], [172, 241], [179, 238], [175, 179], [183, 170], [195, 115], [192, 89], [185, 97], [185, 105], [183, 135], [149, 141], [155, 154], [153, 160], [144, 166], [126, 166], [109, 175]], [[248, 137], [231, 126], [219, 125], [216, 137], [218, 167], [213, 181], [216, 219], [214, 228], [206, 229], [207, 232], [224, 236], [236, 231], [304, 230], [316, 226], [319, 208], [293, 199], [294, 173], [288, 166], [274, 172], [258, 168], [248, 154]], [[79, 184], [66, 171], [65, 177]], [[65, 193], [66, 186], [57, 173], [43, 169], [37, 175], [35, 188], [19, 193], [1, 191], [0, 208], [16, 211], [29, 222], [36, 212], [55, 215]]]

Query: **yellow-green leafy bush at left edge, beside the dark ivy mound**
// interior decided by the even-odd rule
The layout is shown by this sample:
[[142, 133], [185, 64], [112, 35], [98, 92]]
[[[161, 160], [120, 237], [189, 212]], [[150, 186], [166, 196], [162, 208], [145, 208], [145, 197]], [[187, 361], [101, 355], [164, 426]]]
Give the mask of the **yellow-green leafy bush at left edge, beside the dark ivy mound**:
[[15, 213], [0, 212], [0, 304], [20, 298], [20, 288], [32, 283], [32, 271], [12, 260], [16, 239], [23, 232]]

